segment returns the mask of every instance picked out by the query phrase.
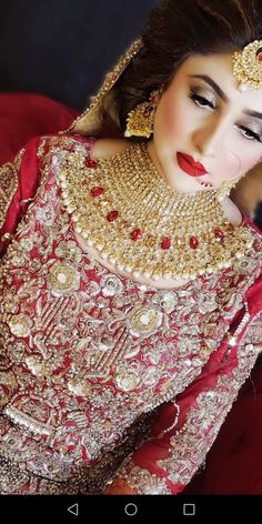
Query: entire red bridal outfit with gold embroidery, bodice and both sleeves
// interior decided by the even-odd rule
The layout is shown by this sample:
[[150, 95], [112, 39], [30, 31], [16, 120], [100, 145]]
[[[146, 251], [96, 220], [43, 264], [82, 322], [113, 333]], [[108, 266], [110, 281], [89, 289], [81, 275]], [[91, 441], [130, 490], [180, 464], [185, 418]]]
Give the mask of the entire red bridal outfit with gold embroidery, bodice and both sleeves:
[[248, 219], [246, 256], [179, 290], [82, 251], [58, 179], [67, 155], [89, 165], [93, 142], [32, 139], [1, 168], [1, 493], [103, 493], [114, 477], [181, 492], [261, 351]]

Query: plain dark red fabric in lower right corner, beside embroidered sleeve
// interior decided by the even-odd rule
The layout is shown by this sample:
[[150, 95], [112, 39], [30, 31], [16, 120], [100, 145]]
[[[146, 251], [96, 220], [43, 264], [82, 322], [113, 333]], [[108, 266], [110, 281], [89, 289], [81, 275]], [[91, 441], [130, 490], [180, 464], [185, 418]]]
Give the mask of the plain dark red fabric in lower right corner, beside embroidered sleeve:
[[262, 494], [262, 357], [184, 494]]

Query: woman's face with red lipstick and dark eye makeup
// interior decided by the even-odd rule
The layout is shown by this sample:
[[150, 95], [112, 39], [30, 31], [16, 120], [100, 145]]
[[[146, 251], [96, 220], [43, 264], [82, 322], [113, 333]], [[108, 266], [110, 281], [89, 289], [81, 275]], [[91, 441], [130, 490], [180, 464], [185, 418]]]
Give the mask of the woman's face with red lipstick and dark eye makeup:
[[244, 175], [262, 157], [262, 89], [236, 89], [231, 54], [190, 57], [161, 97], [149, 152], [178, 191]]

